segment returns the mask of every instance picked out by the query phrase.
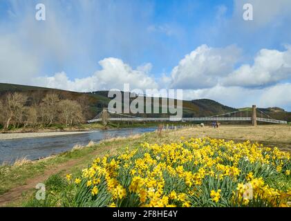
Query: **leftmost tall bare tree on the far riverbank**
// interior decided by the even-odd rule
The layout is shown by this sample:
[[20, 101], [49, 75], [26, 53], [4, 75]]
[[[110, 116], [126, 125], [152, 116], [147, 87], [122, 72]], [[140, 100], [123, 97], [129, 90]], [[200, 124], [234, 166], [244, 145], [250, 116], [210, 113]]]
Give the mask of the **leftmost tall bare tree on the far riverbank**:
[[24, 111], [24, 104], [26, 103], [26, 97], [21, 93], [8, 93], [4, 102], [6, 112], [6, 124], [4, 130], [8, 130], [10, 122], [15, 120], [15, 124], [19, 124]]

